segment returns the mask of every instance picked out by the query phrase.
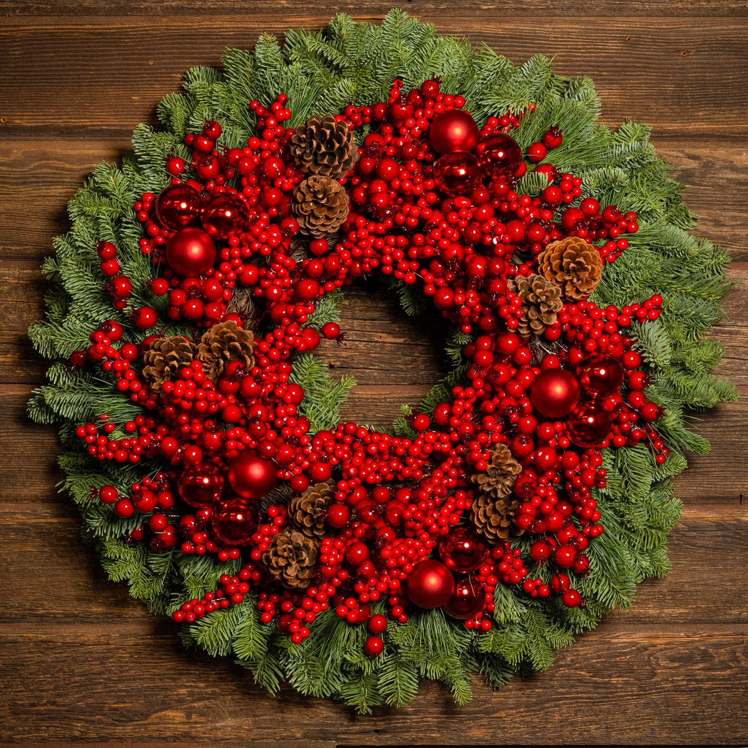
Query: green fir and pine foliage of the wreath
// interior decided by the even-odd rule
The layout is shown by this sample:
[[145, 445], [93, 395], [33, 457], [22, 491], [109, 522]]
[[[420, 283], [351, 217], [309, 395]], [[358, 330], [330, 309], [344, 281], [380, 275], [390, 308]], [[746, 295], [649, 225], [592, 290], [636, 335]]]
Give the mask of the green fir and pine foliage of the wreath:
[[[443, 91], [465, 95], [479, 123], [536, 103], [515, 132], [519, 144], [527, 147], [548, 126], [560, 126], [564, 139], [554, 150], [554, 165], [583, 177], [586, 191], [602, 203], [637, 211], [639, 232], [629, 236], [630, 246], [616, 263], [606, 266], [592, 300], [601, 306], [622, 306], [654, 292], [663, 296], [657, 322], [634, 323], [631, 335], [646, 356], [651, 376], [646, 394], [665, 408], [656, 426], [670, 456], [658, 466], [643, 444], [604, 451], [607, 485], [596, 490], [595, 497], [606, 531], [589, 546], [589, 575], [571, 574], [573, 585], [587, 600], [586, 610], [565, 608], [557, 600], [536, 601], [500, 584], [494, 593], [490, 633], [473, 634], [441, 610], [416, 610], [405, 625], [390, 624], [383, 635], [384, 654], [375, 660], [364, 650], [365, 628], [349, 626], [332, 610], [317, 617], [304, 643], [292, 645], [277, 624], [260, 622], [252, 593], [242, 604], [183, 627], [186, 645], [215, 656], [233, 653], [254, 682], [271, 693], [278, 693], [287, 681], [301, 693], [342, 699], [361, 713], [378, 704], [411, 702], [420, 678], [444, 682], [456, 701], [464, 703], [470, 699], [470, 680], [476, 672], [500, 687], [515, 672], [529, 675], [545, 669], [557, 649], [572, 643], [574, 634], [595, 626], [611, 607], [631, 604], [637, 583], [662, 576], [669, 568], [667, 535], [681, 512], [681, 503], [672, 497], [672, 477], [686, 467], [685, 453], [708, 451], [708, 442], [692, 429], [695, 414], [735, 399], [736, 394], [731, 383], [711, 375], [722, 348], [705, 337], [723, 314], [720, 304], [729, 289], [729, 257], [688, 233], [695, 216], [681, 200], [681, 186], [655, 155], [649, 128], [632, 120], [618, 129], [599, 124], [600, 103], [592, 81], [557, 76], [547, 58], [536, 56], [515, 67], [488, 47], [441, 36], [433, 25], [409, 18], [402, 10], [387, 13], [381, 25], [355, 23], [340, 14], [325, 31], [288, 31], [282, 43], [263, 34], [252, 52], [227, 50], [222, 72], [207, 67], [189, 70], [183, 93], [166, 96], [157, 108], [162, 129], [138, 126], [132, 154], [119, 167], [100, 164], [70, 200], [70, 231], [55, 239], [55, 254], [43, 266], [52, 283], [46, 294], [46, 319], [29, 330], [36, 349], [55, 363], [48, 384], [34, 390], [28, 411], [39, 423], [60, 423], [61, 441], [70, 450], [59, 459], [66, 473], [61, 490], [68, 491], [79, 507], [83, 539], [99, 552], [111, 579], [126, 581], [132, 595], [157, 613], [171, 613], [184, 601], [215, 589], [221, 574], [238, 571], [238, 561], [221, 564], [209, 554], [186, 556], [176, 550], [156, 553], [142, 542], [129, 542], [129, 533], [144, 521], [143, 515], [120, 518], [92, 493], [105, 484], [126, 493], [132, 482], [162, 465], [99, 462], [80, 450], [74, 435], [79, 423], [106, 413], [116, 437], [123, 423], [140, 412], [128, 393], [117, 393], [111, 375], [73, 372], [67, 365], [73, 352], [88, 346], [89, 334], [105, 319], [120, 322], [127, 340], [143, 340], [145, 333], [132, 325], [129, 312], [141, 304], [166, 303], [153, 301], [144, 288], [153, 267], [138, 247], [142, 224], [132, 205], [144, 191], [158, 192], [168, 183], [165, 156], [188, 158], [184, 135], [206, 118], [223, 126], [219, 146], [242, 147], [256, 133], [249, 108], [252, 99], [266, 103], [287, 93], [293, 112], [290, 124], [295, 126], [312, 113], [337, 113], [349, 103], [385, 100], [396, 77], [408, 90], [433, 76], [441, 78]], [[366, 132], [356, 132], [359, 141]], [[545, 177], [530, 171], [518, 189], [534, 195], [544, 185]], [[117, 245], [122, 272], [132, 278], [135, 289], [125, 310], [114, 310], [103, 289], [95, 250], [98, 239]], [[393, 281], [393, 288], [406, 313], [428, 313], [420, 281]], [[319, 329], [339, 319], [343, 303], [342, 291], [326, 294], [307, 324]], [[451, 401], [454, 386], [465, 384], [464, 348], [470, 340], [471, 335], [456, 329], [447, 335], [450, 374], [432, 387], [420, 412], [432, 414], [436, 405]], [[309, 418], [311, 432], [333, 428], [353, 379], [343, 376], [337, 381], [310, 354], [295, 360], [291, 379], [304, 387], [299, 411]], [[393, 431], [413, 437], [412, 414], [410, 406], [403, 406]], [[279, 488], [273, 499], [283, 497]], [[530, 541], [520, 538], [515, 544], [527, 557]], [[549, 571], [534, 567], [530, 574], [548, 580]], [[373, 612], [382, 610], [381, 602], [373, 605]]]

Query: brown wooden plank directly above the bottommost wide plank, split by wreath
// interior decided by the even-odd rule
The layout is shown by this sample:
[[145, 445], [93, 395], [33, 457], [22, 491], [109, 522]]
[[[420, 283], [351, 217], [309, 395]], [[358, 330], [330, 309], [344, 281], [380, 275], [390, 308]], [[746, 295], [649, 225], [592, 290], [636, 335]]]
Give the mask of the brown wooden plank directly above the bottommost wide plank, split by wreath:
[[[0, 503], [0, 568], [7, 589], [24, 590], [0, 610], [0, 635], [28, 638], [36, 631], [45, 640], [96, 643], [101, 632], [92, 630], [106, 620], [127, 641], [174, 636], [171, 623], [129, 598], [126, 584], [107, 580], [96, 554], [81, 544], [79, 527], [72, 503]], [[633, 607], [605, 620], [632, 629], [748, 625], [748, 587], [740, 574], [727, 571], [748, 565], [747, 531], [748, 501], [686, 506], [670, 536], [672, 571], [642, 583]], [[44, 570], [31, 584], [28, 559], [40, 548]]]

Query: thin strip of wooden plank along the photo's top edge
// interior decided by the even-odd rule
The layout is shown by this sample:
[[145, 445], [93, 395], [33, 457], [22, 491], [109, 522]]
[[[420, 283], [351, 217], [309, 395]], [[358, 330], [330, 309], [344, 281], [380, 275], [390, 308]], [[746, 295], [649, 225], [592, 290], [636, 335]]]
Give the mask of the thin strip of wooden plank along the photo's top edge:
[[[345, 2], [330, 2], [325, 0], [314, 4], [314, 16], [310, 16], [310, 7], [292, 0], [254, 0], [252, 14], [263, 16], [283, 16], [289, 26], [310, 25], [319, 22], [317, 19], [328, 19], [336, 13], [348, 13], [352, 16], [367, 18], [381, 18], [393, 7], [392, 0], [368, 0], [366, 2], [346, 0]], [[450, 4], [419, 0], [401, 7], [408, 13], [418, 16], [424, 21], [445, 18], [463, 18], [464, 8], [459, 4]], [[539, 15], [549, 18], [568, 18], [578, 13], [580, 6], [573, 0], [559, 0], [554, 4], [547, 4], [544, 0], [509, 0], [507, 2], [481, 2], [476, 7], [470, 7], [470, 17], [484, 22], [495, 23], [497, 16], [506, 18], [512, 16]], [[605, 14], [607, 16], [661, 16], [663, 6], [652, 0], [612, 0], [610, 2], [593, 1], [585, 4], [584, 10], [591, 18]], [[719, 16], [729, 18], [746, 15], [744, 3], [730, 0], [674, 0], [667, 4], [667, 11], [672, 16]], [[25, 0], [0, 2], [0, 15], [17, 19], [24, 16], [181, 16], [188, 13], [191, 16], [213, 16], [248, 14], [247, 4], [242, 0], [205, 0], [194, 4], [189, 0], [77, 0], [75, 3], [65, 0]]]

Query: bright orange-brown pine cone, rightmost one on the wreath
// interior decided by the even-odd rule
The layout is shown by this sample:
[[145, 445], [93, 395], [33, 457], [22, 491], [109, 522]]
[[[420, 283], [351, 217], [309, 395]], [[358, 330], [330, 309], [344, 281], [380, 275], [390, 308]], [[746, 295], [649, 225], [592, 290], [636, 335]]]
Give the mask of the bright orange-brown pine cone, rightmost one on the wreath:
[[600, 283], [603, 261], [595, 247], [579, 236], [551, 242], [538, 257], [538, 272], [562, 289], [570, 301], [589, 296]]

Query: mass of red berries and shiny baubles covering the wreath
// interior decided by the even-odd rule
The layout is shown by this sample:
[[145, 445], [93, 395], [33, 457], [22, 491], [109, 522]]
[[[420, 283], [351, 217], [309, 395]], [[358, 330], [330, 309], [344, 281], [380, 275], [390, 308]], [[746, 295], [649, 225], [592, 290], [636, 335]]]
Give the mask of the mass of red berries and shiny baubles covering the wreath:
[[[352, 129], [378, 126], [340, 180], [351, 200], [340, 241], [311, 241], [310, 257], [298, 261], [290, 246], [299, 227], [289, 215], [289, 197], [304, 175], [287, 149], [293, 131], [283, 125], [291, 116], [286, 101], [279, 96], [269, 108], [252, 103], [259, 135], [242, 149], [218, 147], [221, 126], [206, 122], [186, 137], [189, 164], [168, 159], [172, 184], [135, 203], [144, 224], [141, 251], [167, 265], [148, 288], [168, 295], [169, 319], [196, 328], [227, 319], [242, 325], [242, 313], [228, 310], [239, 283], [262, 301], [269, 329], [257, 338], [251, 370], [230, 364], [214, 383], [194, 361], [158, 394], [133, 367], [152, 337], [117, 348], [123, 336], [117, 322], [94, 331], [73, 364], [100, 362], [117, 389], [150, 415], [124, 424], [120, 434], [104, 414], [99, 426], [81, 426], [78, 435], [99, 459], [160, 457], [171, 466], [133, 485], [129, 496], [105, 486], [99, 498], [139, 523], [131, 540], [160, 550], [181, 539], [186, 554], [242, 557], [237, 576], [222, 577], [220, 589], [183, 604], [174, 612], [177, 621], [238, 604], [252, 585], [260, 589], [260, 619], [278, 616], [293, 642], [304, 640], [316, 615], [331, 606], [350, 625], [367, 624], [367, 651], [375, 656], [387, 627], [384, 616], [371, 615], [378, 600], [396, 622], [408, 619], [413, 603], [444, 607], [479, 631], [491, 628], [499, 583], [533, 597], [559, 595], [570, 607], [583, 604], [568, 572], [586, 573], [585, 550], [603, 532], [592, 497], [592, 488], [605, 485], [601, 448], [646, 440], [657, 462], [667, 454], [650, 425], [660, 409], [643, 394], [648, 380], [641, 357], [622, 332], [633, 320], [657, 319], [662, 299], [621, 310], [585, 300], [565, 304], [545, 330], [554, 347], [544, 355], [515, 334], [521, 304], [506, 281], [530, 275], [545, 245], [563, 236], [604, 240], [601, 257], [613, 262], [628, 247], [624, 235], [637, 231], [636, 215], [601, 209], [583, 197], [578, 177], [539, 163], [562, 145], [558, 128], [530, 145], [523, 159], [508, 133], [534, 106], [491, 117], [479, 129], [462, 111], [464, 99], [442, 94], [438, 82], [408, 93], [396, 82], [387, 103], [350, 106], [339, 117]], [[538, 197], [515, 191], [527, 162], [548, 180]], [[183, 181], [188, 165], [197, 178]], [[578, 207], [571, 204], [577, 201]], [[132, 283], [120, 273], [114, 245], [96, 249], [114, 307], [123, 309]], [[478, 336], [465, 346], [467, 384], [454, 387], [452, 400], [437, 405], [432, 417], [417, 414], [413, 438], [355, 423], [312, 436], [298, 411], [304, 392], [289, 381], [292, 357], [319, 345], [319, 331], [307, 326], [319, 298], [375, 270], [423, 283], [462, 331], [477, 326]], [[159, 324], [152, 307], [132, 316], [141, 329]], [[341, 339], [334, 322], [322, 334]], [[533, 539], [533, 562], [554, 564], [550, 585], [528, 576], [509, 542], [491, 547], [460, 526], [473, 502], [468, 476], [487, 468], [490, 447], [498, 443], [521, 462], [516, 521]], [[334, 480], [334, 471], [330, 532], [315, 582], [301, 591], [280, 589], [262, 558], [289, 517], [281, 504], [262, 517], [257, 500], [278, 481], [301, 492], [310, 482]]]

